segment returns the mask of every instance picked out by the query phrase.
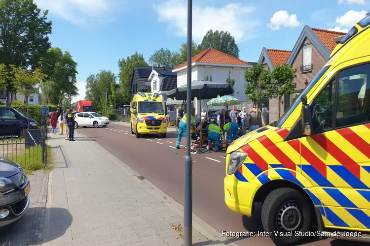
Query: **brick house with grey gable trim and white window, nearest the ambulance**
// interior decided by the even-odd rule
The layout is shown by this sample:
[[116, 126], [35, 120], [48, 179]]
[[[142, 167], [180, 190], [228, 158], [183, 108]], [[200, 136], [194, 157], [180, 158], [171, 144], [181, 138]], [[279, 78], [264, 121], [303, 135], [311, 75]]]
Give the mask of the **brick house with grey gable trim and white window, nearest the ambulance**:
[[296, 91], [290, 96], [290, 103], [329, 61], [330, 54], [345, 34], [309, 26], [303, 28], [287, 60], [287, 64], [297, 69], [294, 80]]

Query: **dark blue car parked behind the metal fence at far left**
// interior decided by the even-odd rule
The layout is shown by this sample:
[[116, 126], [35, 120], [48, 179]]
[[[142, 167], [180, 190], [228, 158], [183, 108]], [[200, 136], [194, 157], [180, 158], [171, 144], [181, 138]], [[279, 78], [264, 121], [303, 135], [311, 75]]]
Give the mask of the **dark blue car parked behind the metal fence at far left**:
[[[28, 125], [27, 125], [28, 122]], [[12, 107], [0, 107], [0, 136], [24, 136], [24, 129], [37, 129], [37, 122]]]

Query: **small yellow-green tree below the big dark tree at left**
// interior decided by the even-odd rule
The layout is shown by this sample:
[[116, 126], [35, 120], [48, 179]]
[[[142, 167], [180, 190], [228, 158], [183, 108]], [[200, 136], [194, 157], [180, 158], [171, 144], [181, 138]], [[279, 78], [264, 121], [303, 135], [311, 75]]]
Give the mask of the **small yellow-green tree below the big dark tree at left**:
[[40, 80], [44, 79], [46, 75], [41, 72], [40, 68], [31, 71], [11, 65], [11, 69], [14, 87], [25, 96], [28, 102], [28, 96], [35, 92], [36, 85]]

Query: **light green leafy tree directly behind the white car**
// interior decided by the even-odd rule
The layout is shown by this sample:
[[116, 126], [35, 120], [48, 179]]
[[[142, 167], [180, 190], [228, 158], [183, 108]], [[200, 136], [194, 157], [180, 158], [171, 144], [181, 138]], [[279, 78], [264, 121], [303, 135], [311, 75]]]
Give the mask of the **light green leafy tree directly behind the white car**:
[[110, 70], [100, 70], [97, 74], [90, 74], [86, 79], [86, 100], [94, 101], [96, 111], [105, 112], [108, 98], [111, 96], [111, 83], [116, 83], [116, 76]]

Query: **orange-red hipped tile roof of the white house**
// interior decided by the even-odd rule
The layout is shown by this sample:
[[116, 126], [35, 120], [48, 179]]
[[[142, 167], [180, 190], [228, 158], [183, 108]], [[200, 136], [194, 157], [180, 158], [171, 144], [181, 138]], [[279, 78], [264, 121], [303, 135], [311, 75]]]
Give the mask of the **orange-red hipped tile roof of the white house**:
[[[250, 62], [244, 62], [236, 57], [227, 55], [219, 50], [208, 48], [205, 51], [202, 51], [196, 56], [191, 58], [191, 63], [202, 62], [202, 63], [218, 63], [218, 64], [232, 64], [232, 65], [251, 65]], [[178, 69], [187, 65], [187, 62], [184, 62], [174, 69]]]

